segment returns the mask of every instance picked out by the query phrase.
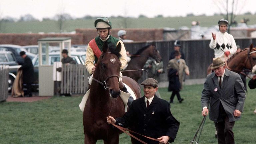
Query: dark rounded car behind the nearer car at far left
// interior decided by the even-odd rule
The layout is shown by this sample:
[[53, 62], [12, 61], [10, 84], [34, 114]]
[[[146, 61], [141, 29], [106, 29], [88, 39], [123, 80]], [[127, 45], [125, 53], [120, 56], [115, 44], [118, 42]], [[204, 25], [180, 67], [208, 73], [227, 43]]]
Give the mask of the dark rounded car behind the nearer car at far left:
[[0, 51], [11, 51], [19, 65], [24, 63], [24, 59], [20, 56], [21, 51], [25, 51], [26, 55], [28, 55], [30, 59], [33, 59], [36, 56], [35, 54], [27, 52], [26, 49], [22, 48], [19, 45], [0, 45]]

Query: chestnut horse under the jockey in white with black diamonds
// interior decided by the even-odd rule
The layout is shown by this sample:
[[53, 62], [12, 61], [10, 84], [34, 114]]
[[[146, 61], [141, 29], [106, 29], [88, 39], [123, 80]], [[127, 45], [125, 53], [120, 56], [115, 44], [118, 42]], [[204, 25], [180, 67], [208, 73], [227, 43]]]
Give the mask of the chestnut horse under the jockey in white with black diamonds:
[[[253, 44], [249, 48], [245, 48], [239, 53], [234, 54], [226, 62], [226, 68], [240, 73], [244, 68], [252, 70], [252, 67], [256, 65], [256, 48], [253, 48]], [[210, 74], [212, 64], [207, 69], [207, 75]]]

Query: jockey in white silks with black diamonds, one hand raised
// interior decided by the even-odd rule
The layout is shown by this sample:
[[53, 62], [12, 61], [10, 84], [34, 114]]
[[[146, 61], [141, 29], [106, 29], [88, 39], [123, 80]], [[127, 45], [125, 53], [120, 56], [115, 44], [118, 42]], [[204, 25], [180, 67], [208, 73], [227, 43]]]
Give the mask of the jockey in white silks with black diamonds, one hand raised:
[[216, 34], [212, 33], [212, 39], [209, 46], [211, 49], [214, 49], [215, 57], [221, 57], [222, 60], [225, 60], [224, 54], [227, 57], [230, 57], [236, 53], [237, 46], [234, 37], [226, 32], [228, 28], [228, 21], [221, 19], [218, 24], [220, 31]]

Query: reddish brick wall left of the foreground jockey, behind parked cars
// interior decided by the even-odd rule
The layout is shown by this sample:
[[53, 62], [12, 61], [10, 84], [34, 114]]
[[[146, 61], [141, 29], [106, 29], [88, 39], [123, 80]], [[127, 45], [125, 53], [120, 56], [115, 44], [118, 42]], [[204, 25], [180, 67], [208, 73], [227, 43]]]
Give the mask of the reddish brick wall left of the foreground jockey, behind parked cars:
[[82, 34], [0, 34], [0, 44], [37, 45], [37, 40], [46, 37], [71, 37], [72, 44], [83, 44]]

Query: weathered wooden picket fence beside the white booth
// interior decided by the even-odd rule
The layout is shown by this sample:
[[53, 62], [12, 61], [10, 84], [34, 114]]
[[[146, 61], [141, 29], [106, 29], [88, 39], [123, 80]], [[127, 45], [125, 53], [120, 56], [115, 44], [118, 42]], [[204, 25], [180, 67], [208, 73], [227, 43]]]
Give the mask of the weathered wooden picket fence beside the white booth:
[[88, 77], [90, 74], [84, 65], [62, 66], [61, 94], [85, 94], [88, 88]]

